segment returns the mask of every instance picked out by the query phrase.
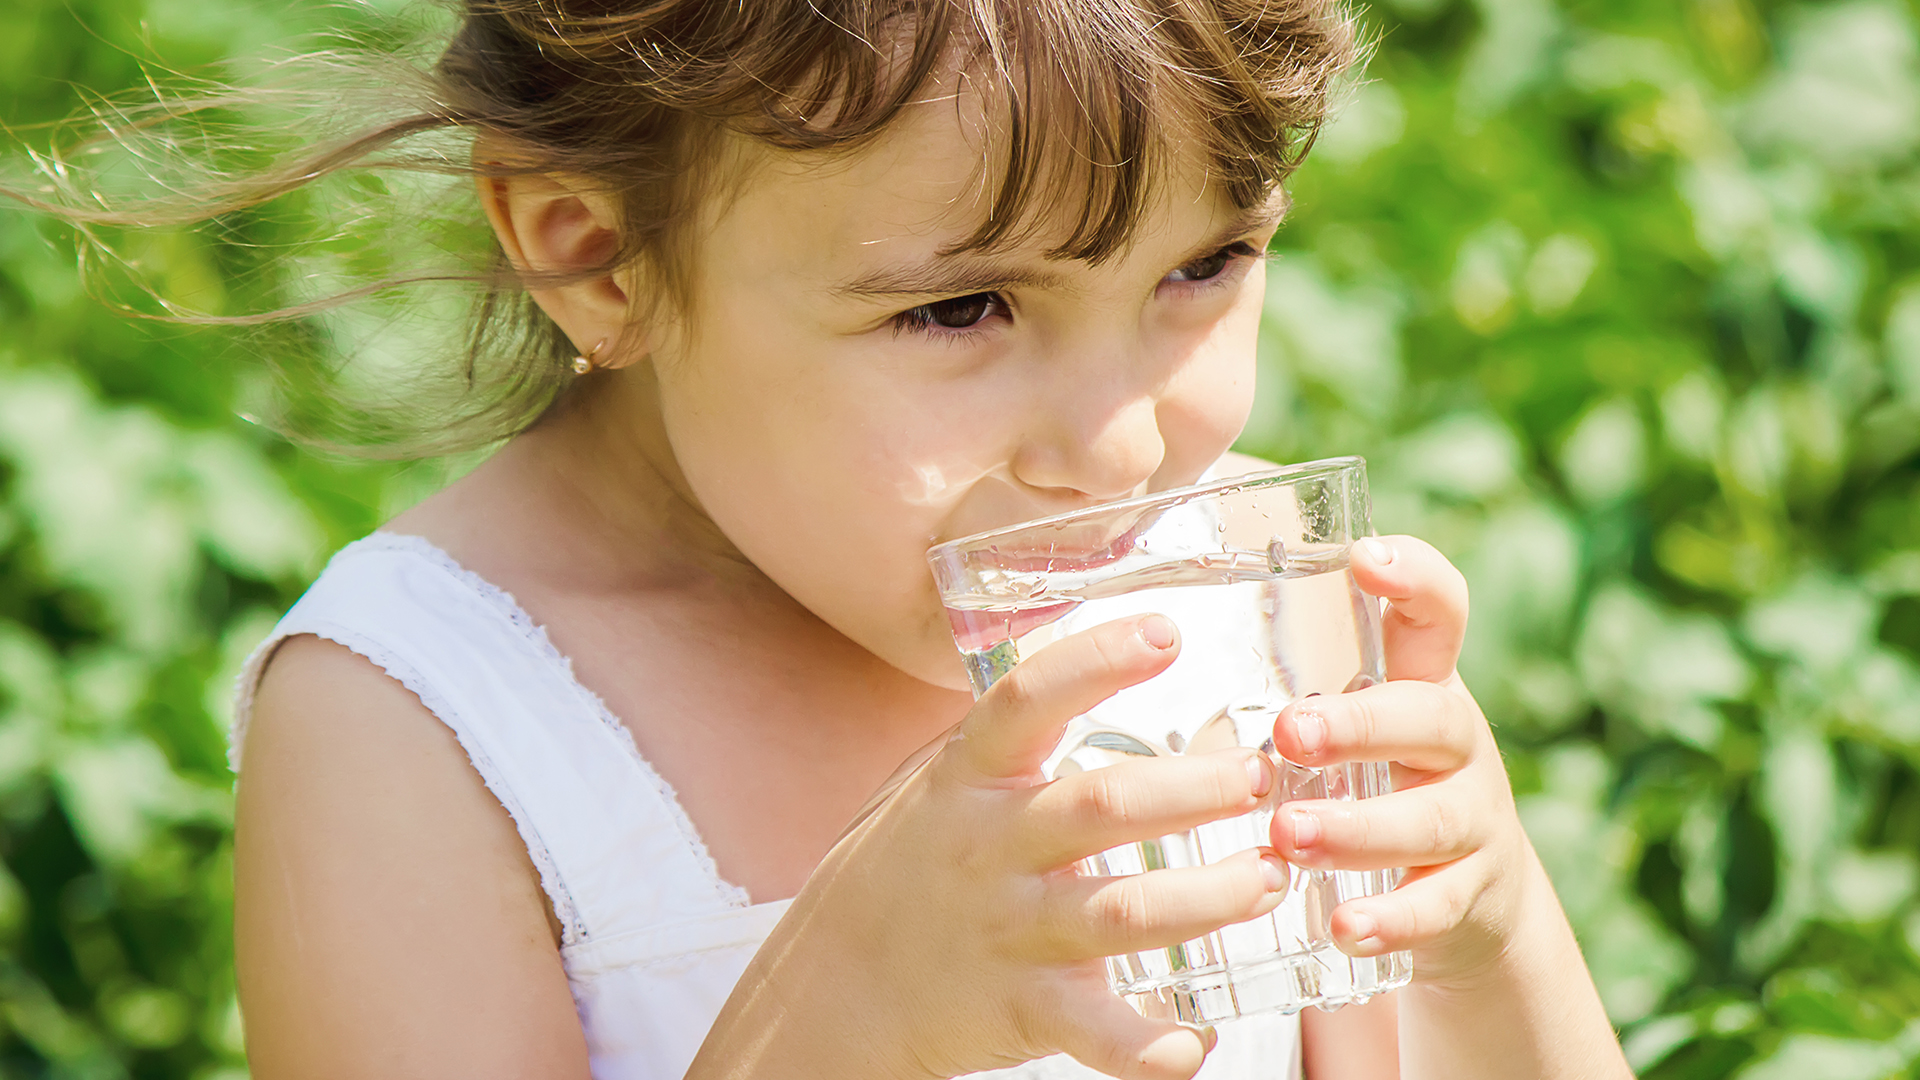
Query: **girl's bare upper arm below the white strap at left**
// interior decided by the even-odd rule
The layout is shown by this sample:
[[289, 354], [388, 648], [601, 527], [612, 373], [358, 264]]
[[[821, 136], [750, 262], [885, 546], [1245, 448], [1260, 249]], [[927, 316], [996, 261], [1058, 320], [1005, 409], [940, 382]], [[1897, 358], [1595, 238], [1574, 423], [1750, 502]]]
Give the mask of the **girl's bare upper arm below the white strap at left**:
[[259, 1080], [584, 1080], [586, 1040], [520, 836], [403, 686], [313, 636], [253, 709], [234, 949]]

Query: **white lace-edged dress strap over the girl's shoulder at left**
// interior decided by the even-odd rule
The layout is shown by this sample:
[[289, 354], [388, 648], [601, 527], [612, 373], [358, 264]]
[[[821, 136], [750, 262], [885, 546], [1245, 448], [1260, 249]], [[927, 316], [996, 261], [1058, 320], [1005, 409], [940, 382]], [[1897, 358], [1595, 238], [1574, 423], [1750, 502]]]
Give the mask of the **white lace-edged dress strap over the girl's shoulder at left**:
[[459, 738], [513, 815], [563, 945], [745, 907], [672, 788], [505, 592], [415, 536], [342, 548], [240, 675], [230, 759], [273, 650], [294, 634], [386, 669]]

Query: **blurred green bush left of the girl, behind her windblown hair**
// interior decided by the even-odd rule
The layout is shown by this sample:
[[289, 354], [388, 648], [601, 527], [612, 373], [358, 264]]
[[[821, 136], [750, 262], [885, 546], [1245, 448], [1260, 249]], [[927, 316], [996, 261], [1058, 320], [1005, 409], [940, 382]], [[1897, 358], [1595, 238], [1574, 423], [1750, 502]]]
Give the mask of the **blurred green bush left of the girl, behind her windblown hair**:
[[[367, 8], [6, 0], [19, 146], [138, 86], [142, 58], [259, 63]], [[165, 71], [154, 73], [167, 79]], [[129, 250], [169, 292], [244, 294], [253, 225]], [[422, 469], [298, 454], [236, 419], [255, 338], [121, 319], [71, 242], [0, 208], [0, 1078], [244, 1076], [232, 990], [232, 676], [328, 550]], [[430, 482], [432, 469], [424, 469]]]

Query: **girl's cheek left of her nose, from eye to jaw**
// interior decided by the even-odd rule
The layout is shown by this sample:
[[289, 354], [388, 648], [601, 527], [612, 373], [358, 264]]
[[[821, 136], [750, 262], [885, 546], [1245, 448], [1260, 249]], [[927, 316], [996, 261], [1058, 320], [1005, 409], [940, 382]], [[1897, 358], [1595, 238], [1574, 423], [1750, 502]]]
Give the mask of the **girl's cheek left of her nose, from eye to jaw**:
[[[722, 344], [781, 359], [728, 363]], [[954, 421], [973, 409], [864, 377], [845, 352], [739, 352], [751, 344], [714, 340], [684, 379], [662, 379], [668, 438], [701, 507], [824, 623], [908, 675], [964, 686], [925, 550], [991, 471], [977, 425]]]

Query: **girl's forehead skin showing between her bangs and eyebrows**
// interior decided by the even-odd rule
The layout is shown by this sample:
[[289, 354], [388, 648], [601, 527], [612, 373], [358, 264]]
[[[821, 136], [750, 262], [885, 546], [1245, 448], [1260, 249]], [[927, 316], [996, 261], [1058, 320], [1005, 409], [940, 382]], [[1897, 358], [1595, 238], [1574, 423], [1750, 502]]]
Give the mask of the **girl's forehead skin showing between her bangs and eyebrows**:
[[[1000, 169], [995, 115], [966, 75], [947, 75], [856, 150], [781, 152], [735, 138], [739, 183], [708, 234], [722, 244], [749, 242], [781, 263], [801, 263], [835, 281], [852, 281], [879, 263], [954, 254], [993, 208], [991, 181]], [[1183, 156], [1181, 142], [1169, 140], [1173, 150], [1156, 169], [1139, 227], [1116, 254], [1117, 261], [1127, 261], [1129, 250], [1190, 246], [1223, 223], [1248, 217], [1208, 183], [1208, 160], [1198, 150], [1204, 142], [1185, 144], [1194, 152]], [[1043, 173], [1041, 183], [1056, 186], [1035, 192], [1029, 221], [991, 248], [954, 258], [1052, 263], [1062, 273], [1085, 269], [1077, 259], [1050, 256], [1073, 229], [1079, 181], [1048, 181]], [[1254, 208], [1250, 217], [1277, 217], [1277, 209]]]

